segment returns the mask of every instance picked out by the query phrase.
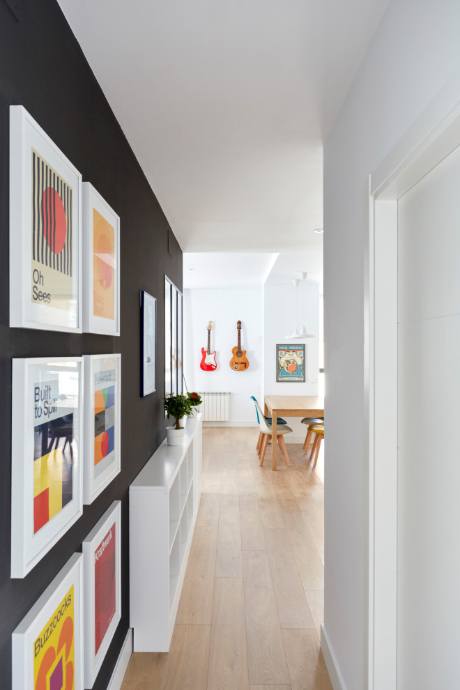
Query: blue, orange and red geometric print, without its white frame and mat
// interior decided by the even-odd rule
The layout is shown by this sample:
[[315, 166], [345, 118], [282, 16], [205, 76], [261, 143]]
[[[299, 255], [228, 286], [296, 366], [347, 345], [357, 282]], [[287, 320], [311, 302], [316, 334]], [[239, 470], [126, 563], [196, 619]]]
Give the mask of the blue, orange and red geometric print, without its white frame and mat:
[[98, 477], [115, 459], [116, 370], [94, 373], [94, 476]]

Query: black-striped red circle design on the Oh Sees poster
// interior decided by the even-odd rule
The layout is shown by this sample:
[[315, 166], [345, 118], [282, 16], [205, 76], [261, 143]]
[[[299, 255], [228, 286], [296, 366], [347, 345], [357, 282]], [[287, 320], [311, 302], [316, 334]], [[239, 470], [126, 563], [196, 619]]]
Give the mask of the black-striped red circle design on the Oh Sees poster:
[[33, 149], [32, 259], [72, 275], [72, 187]]

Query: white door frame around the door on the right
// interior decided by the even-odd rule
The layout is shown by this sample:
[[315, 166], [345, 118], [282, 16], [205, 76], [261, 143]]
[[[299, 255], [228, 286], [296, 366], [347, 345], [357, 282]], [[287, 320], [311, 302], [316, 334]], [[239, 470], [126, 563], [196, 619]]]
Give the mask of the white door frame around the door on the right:
[[460, 145], [449, 82], [369, 178], [365, 411], [369, 453], [367, 677], [397, 687], [397, 200]]

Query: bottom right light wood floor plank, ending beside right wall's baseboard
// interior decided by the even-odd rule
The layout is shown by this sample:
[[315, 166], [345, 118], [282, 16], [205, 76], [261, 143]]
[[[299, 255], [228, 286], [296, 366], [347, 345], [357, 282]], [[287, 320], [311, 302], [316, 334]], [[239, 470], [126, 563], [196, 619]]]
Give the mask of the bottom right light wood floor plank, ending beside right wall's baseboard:
[[283, 630], [292, 690], [332, 690], [316, 630]]

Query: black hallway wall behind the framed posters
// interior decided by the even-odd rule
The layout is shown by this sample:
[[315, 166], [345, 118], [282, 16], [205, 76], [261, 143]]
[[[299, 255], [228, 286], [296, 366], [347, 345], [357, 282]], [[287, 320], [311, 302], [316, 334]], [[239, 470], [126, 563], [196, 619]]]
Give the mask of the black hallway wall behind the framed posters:
[[[13, 0], [11, 0], [13, 2]], [[0, 688], [11, 633], [115, 499], [122, 501], [122, 618], [95, 682], [107, 688], [129, 627], [128, 486], [165, 436], [164, 274], [182, 289], [164, 214], [55, 0], [0, 0]], [[120, 85], [123, 89], [123, 84]], [[121, 336], [8, 328], [9, 106], [23, 105], [121, 218]], [[157, 392], [139, 396], [139, 290], [157, 298]], [[10, 579], [11, 359], [121, 353], [121, 473], [22, 580]]]

